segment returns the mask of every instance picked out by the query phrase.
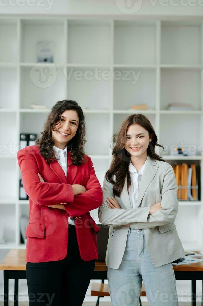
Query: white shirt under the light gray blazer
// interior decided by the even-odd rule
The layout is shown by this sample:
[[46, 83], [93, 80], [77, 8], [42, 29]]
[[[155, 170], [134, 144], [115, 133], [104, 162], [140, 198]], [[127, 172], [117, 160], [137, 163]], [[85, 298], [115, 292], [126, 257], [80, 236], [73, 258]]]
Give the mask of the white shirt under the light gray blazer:
[[139, 190], [139, 184], [142, 178], [143, 171], [145, 169], [146, 162], [148, 160], [148, 155], [147, 159], [144, 163], [144, 165], [141, 167], [141, 169], [137, 172], [136, 168], [133, 166], [133, 164], [130, 161], [129, 164], [129, 171], [130, 171], [130, 176], [131, 176], [131, 190], [129, 192], [129, 199], [131, 203], [132, 208], [137, 207], [137, 197], [138, 197], [138, 190]]

